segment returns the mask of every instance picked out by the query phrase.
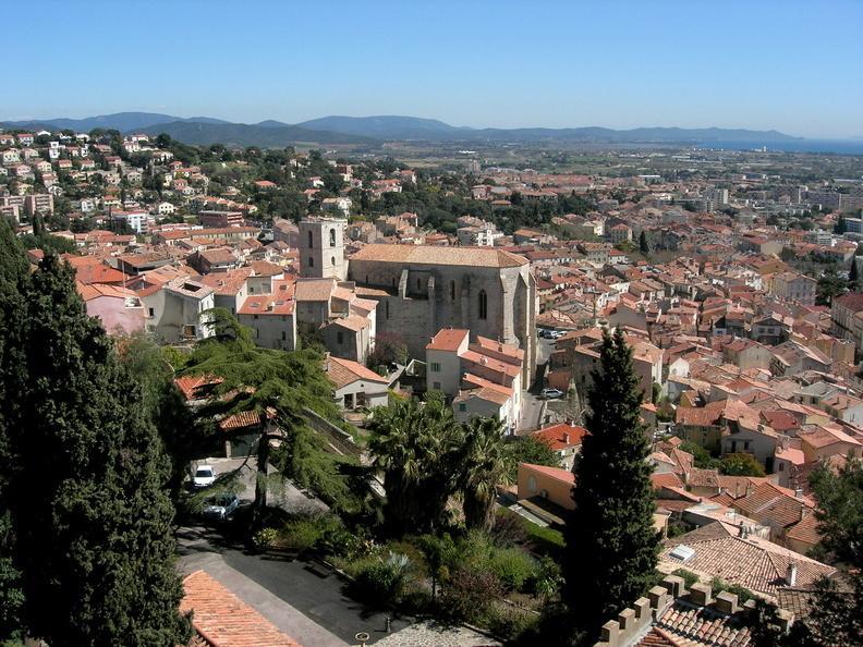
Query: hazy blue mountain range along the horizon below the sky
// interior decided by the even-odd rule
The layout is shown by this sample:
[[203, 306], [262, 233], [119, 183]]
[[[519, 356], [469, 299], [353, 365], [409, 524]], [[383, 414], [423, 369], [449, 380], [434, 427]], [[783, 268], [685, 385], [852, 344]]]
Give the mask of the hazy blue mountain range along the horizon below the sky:
[[299, 124], [267, 120], [256, 124], [232, 123], [210, 117], [180, 118], [157, 112], [118, 112], [85, 119], [8, 121], [3, 127], [114, 129], [123, 133], [167, 133], [186, 144], [226, 144], [281, 147], [291, 144], [379, 145], [392, 141], [465, 143], [585, 143], [585, 144], [709, 144], [712, 142], [769, 145], [800, 141], [777, 131], [733, 129], [643, 127], [617, 131], [604, 127], [576, 129], [472, 129], [452, 126], [435, 119], [416, 117], [324, 117]]

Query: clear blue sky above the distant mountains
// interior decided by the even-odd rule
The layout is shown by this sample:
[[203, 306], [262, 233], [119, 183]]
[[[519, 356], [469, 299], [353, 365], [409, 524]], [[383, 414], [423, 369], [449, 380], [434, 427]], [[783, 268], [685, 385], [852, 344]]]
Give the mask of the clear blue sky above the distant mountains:
[[2, 13], [15, 26], [3, 119], [410, 114], [863, 136], [863, 0], [40, 0]]

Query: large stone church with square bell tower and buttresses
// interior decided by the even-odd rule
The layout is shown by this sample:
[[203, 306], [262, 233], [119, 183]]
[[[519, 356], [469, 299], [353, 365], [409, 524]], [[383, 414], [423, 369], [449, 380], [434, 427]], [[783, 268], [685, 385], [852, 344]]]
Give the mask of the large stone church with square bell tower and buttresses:
[[347, 278], [357, 296], [377, 302], [377, 333], [401, 337], [413, 357], [425, 357], [426, 344], [448, 326], [523, 349], [522, 383], [532, 383], [537, 296], [526, 258], [494, 247], [373, 244], [344, 260], [344, 225], [300, 223], [303, 277]]

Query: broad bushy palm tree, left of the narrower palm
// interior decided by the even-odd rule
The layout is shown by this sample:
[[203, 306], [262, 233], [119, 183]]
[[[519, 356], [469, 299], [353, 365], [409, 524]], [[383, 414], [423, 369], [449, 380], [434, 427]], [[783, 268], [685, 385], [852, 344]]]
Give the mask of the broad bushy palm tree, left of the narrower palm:
[[384, 472], [390, 533], [429, 532], [446, 521], [463, 451], [462, 430], [442, 399], [403, 400], [378, 407], [368, 449]]

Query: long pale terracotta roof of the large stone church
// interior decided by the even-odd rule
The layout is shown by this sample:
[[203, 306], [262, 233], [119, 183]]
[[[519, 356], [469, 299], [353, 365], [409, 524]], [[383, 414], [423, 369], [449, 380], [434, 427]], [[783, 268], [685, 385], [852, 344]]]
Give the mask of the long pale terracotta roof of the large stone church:
[[522, 267], [527, 259], [493, 247], [440, 247], [437, 245], [365, 245], [351, 260], [454, 265], [463, 267]]

